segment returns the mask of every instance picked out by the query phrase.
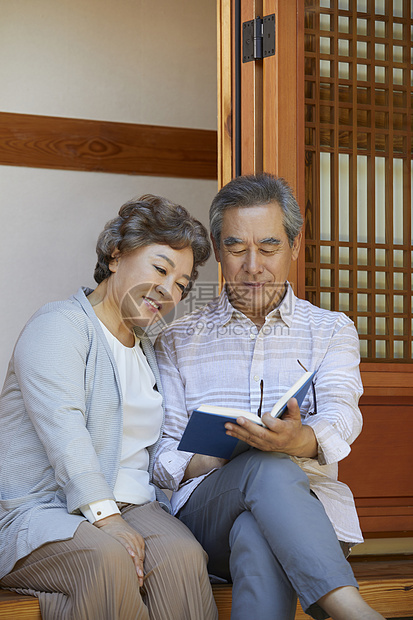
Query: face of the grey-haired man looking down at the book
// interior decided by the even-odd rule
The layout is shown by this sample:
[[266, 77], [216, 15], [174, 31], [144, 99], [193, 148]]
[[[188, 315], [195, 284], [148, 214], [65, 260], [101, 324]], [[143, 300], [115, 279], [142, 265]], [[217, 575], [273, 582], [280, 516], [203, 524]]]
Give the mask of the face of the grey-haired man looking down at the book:
[[291, 261], [298, 257], [301, 233], [290, 247], [281, 207], [271, 203], [228, 209], [220, 246], [214, 239], [212, 242], [232, 305], [262, 325], [284, 295]]

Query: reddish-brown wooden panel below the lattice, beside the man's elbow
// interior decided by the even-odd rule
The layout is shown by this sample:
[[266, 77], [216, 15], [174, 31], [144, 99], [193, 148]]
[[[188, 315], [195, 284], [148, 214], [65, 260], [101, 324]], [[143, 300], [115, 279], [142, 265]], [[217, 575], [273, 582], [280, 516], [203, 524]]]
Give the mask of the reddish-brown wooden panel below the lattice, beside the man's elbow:
[[361, 400], [363, 431], [339, 465], [363, 532], [413, 531], [411, 397]]

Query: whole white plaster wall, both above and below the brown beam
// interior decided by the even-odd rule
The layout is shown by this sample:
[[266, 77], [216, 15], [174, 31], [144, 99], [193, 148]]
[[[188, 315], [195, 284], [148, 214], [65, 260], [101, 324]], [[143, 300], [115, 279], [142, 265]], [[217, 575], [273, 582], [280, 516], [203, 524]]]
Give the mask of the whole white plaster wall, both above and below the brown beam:
[[[0, 0], [0, 15], [0, 111], [216, 128], [214, 0]], [[0, 386], [31, 314], [93, 285], [97, 236], [123, 202], [164, 195], [206, 224], [216, 189], [0, 166]], [[216, 282], [213, 259], [201, 279]]]

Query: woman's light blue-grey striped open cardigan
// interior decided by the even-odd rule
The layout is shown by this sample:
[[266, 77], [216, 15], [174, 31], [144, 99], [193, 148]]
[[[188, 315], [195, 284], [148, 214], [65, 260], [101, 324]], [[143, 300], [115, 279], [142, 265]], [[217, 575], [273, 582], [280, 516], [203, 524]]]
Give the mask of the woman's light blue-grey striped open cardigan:
[[[84, 520], [79, 506], [114, 498], [122, 394], [90, 292], [43, 306], [9, 364], [0, 396], [0, 578], [44, 543], [71, 538]], [[152, 344], [139, 335], [161, 391]]]

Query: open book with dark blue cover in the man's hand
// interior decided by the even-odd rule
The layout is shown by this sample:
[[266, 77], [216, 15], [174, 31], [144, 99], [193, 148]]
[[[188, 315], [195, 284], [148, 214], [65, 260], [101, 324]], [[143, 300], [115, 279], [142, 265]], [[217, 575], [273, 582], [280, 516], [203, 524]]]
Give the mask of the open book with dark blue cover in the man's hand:
[[[290, 398], [296, 398], [300, 407], [315, 372], [306, 372], [294, 385], [275, 403], [271, 410], [273, 418], [279, 418], [287, 410]], [[239, 417], [246, 418], [265, 426], [264, 422], [255, 413], [234, 409], [232, 407], [219, 407], [215, 405], [201, 405], [192, 413], [187, 427], [178, 445], [178, 450], [218, 456], [223, 459], [232, 459], [248, 449], [248, 444], [236, 437], [226, 434], [225, 424], [236, 422]]]

